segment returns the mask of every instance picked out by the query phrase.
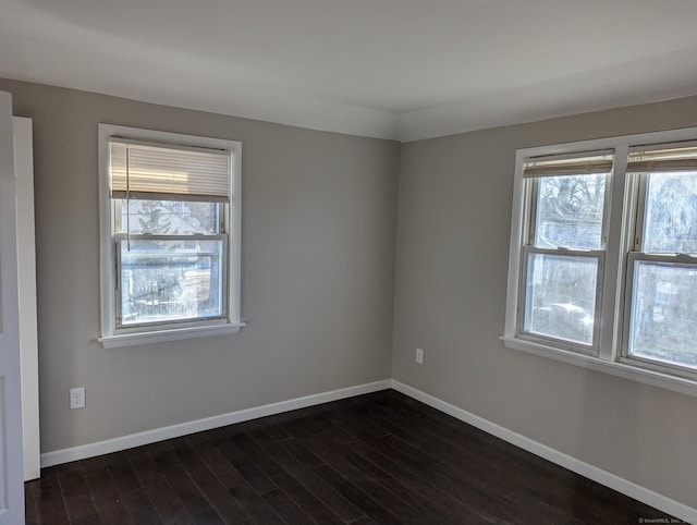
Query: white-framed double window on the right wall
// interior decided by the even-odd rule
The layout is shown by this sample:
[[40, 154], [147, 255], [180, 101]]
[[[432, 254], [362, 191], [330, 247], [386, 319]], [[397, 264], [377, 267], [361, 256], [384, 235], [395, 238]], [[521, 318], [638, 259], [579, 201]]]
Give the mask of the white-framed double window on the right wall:
[[697, 395], [696, 137], [518, 150], [506, 346]]

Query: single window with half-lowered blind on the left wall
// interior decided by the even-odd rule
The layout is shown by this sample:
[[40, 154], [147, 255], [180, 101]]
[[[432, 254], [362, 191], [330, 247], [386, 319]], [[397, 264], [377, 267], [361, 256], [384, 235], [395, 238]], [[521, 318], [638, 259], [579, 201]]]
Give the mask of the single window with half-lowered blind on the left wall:
[[240, 329], [241, 144], [100, 124], [105, 346]]

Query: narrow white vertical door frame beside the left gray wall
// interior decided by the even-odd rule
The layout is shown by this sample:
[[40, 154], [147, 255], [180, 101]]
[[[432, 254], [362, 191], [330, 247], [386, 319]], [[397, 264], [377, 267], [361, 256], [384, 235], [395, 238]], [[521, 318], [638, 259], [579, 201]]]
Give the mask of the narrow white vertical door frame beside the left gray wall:
[[39, 359], [36, 331], [36, 247], [34, 234], [34, 149], [32, 119], [12, 118], [14, 191], [17, 219], [17, 285], [22, 359], [22, 430], [24, 480], [40, 475]]

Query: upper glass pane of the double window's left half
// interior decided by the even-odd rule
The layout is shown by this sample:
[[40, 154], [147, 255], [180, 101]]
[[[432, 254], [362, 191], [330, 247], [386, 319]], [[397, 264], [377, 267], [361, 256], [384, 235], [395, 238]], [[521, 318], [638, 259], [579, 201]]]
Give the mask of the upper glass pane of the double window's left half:
[[538, 179], [535, 246], [598, 249], [607, 174]]

